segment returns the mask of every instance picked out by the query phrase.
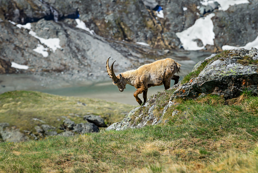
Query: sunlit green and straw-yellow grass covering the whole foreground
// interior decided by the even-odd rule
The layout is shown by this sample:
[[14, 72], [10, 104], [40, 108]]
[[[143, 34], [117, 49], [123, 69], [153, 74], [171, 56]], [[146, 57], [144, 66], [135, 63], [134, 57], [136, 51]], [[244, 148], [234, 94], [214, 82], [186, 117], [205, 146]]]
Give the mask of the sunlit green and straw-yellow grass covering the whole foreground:
[[0, 143], [0, 172], [255, 172], [257, 97], [176, 102], [166, 125]]

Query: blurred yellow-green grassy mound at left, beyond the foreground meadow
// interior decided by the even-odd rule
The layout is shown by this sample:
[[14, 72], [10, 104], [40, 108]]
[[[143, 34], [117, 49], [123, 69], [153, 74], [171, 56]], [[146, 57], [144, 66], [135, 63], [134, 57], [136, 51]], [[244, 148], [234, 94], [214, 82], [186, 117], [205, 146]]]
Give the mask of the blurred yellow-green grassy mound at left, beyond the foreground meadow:
[[[80, 101], [87, 104], [77, 104]], [[75, 123], [84, 122], [83, 118], [69, 115], [86, 115], [94, 113], [101, 117], [106, 117], [109, 124], [123, 119], [125, 113], [135, 108], [132, 105], [107, 102], [100, 99], [76, 98], [56, 96], [41, 92], [13, 91], [0, 95], [0, 122], [7, 122], [16, 125], [20, 130], [33, 130], [35, 125], [49, 124], [59, 127], [62, 124], [61, 116], [67, 116]], [[110, 116], [109, 116], [110, 115]], [[39, 118], [46, 123], [31, 120]], [[61, 119], [58, 121], [57, 119]]]

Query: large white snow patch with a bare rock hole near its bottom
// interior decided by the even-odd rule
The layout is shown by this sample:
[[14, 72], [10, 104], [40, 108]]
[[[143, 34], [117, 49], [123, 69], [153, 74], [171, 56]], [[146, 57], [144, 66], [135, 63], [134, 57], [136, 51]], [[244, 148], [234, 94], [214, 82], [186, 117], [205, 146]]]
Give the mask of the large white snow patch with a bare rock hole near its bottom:
[[[213, 39], [215, 38], [215, 33], [213, 32], [214, 26], [211, 20], [214, 16], [215, 14], [211, 13], [204, 18], [199, 18], [193, 26], [176, 33], [185, 50], [201, 50], [207, 44], [214, 45]], [[193, 41], [198, 38], [202, 40], [202, 47], [199, 47], [197, 42]]]

